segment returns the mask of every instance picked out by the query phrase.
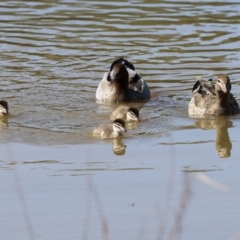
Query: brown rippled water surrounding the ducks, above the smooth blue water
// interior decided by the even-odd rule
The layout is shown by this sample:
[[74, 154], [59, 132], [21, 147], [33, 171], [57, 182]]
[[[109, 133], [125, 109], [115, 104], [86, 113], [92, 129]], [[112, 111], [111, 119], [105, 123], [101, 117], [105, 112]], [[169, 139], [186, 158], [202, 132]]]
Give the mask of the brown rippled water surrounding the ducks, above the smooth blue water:
[[239, 98], [237, 1], [3, 1], [1, 12], [0, 96], [12, 113], [2, 141], [88, 138], [114, 109], [95, 90], [122, 56], [153, 94], [136, 104], [148, 120], [140, 134], [185, 127], [172, 118], [187, 118], [196, 75], [229, 74]]

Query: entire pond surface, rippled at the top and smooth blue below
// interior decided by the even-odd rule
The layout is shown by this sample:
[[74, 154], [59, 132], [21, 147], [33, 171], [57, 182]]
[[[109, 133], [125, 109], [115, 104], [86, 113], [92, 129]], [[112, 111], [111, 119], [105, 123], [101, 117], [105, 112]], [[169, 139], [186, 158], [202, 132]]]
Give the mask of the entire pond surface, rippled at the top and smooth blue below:
[[[178, 238], [240, 239], [240, 117], [187, 114], [196, 75], [228, 74], [240, 99], [239, 11], [238, 1], [1, 1], [11, 115], [0, 119], [0, 235], [174, 239], [185, 209]], [[95, 140], [116, 107], [95, 91], [118, 57], [152, 99], [133, 104], [141, 122], [125, 138]]]

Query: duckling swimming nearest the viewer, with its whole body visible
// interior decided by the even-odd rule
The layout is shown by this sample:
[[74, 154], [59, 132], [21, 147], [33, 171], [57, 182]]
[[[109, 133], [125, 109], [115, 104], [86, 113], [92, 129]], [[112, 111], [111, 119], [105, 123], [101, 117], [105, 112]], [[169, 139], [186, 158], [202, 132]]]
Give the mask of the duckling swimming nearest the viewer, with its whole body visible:
[[94, 129], [93, 136], [100, 138], [116, 138], [122, 136], [126, 132], [124, 120], [118, 118], [115, 119], [113, 125], [101, 125], [98, 128]]

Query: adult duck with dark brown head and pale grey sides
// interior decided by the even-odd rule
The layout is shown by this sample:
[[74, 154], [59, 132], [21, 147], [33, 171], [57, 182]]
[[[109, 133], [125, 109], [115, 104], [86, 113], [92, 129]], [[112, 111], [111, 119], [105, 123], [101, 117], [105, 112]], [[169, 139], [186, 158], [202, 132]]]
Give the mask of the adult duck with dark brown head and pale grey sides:
[[96, 90], [96, 99], [101, 102], [146, 101], [150, 98], [147, 83], [124, 58], [113, 61]]

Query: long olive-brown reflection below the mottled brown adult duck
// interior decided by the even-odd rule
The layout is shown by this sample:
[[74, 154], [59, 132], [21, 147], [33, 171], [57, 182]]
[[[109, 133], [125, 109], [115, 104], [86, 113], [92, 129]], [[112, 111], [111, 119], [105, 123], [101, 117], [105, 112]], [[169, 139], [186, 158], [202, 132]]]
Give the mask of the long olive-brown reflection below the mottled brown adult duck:
[[232, 122], [226, 117], [219, 117], [216, 119], [198, 120], [195, 126], [201, 129], [216, 129], [216, 149], [220, 158], [227, 158], [231, 155], [232, 143], [229, 138], [228, 128], [232, 127]]

